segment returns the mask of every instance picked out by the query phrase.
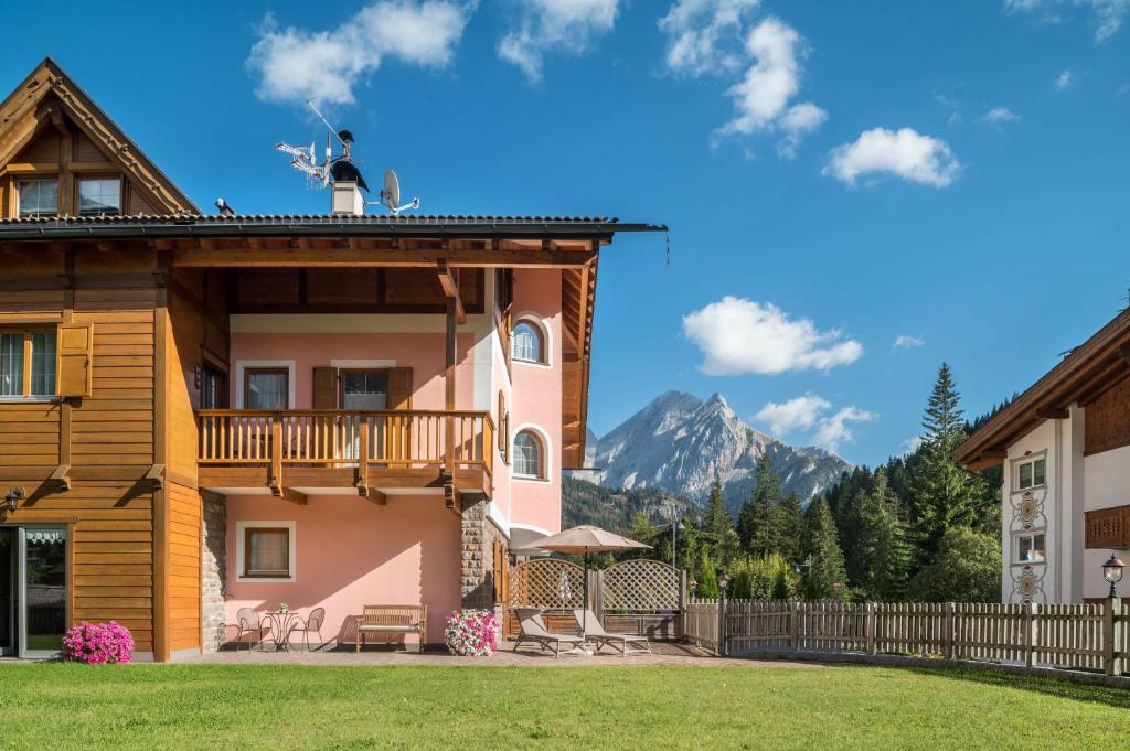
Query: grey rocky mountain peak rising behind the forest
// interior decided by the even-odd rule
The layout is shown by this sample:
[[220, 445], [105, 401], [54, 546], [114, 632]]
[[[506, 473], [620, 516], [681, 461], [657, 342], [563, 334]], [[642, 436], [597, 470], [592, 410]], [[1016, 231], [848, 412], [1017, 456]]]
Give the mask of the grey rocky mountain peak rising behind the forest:
[[784, 492], [807, 504], [851, 464], [824, 449], [796, 447], [754, 429], [721, 394], [709, 400], [678, 391], [660, 395], [607, 436], [589, 435], [585, 464], [574, 477], [603, 488], [657, 488], [702, 503], [714, 473], [736, 510], [762, 456], [773, 460]]

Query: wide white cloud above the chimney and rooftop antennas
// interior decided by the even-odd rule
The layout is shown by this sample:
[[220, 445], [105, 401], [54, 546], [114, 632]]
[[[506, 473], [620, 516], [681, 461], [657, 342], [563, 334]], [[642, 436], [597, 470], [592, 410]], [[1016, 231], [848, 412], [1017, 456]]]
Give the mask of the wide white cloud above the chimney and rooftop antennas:
[[450, 63], [473, 10], [447, 0], [382, 0], [332, 30], [280, 28], [268, 15], [247, 58], [260, 77], [255, 93], [271, 102], [353, 104], [354, 87], [384, 58]]

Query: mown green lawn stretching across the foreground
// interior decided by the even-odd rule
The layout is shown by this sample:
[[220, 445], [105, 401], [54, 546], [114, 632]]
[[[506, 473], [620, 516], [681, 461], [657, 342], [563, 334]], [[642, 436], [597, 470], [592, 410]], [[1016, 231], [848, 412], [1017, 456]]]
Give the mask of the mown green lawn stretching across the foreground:
[[879, 667], [0, 665], [0, 748], [1125, 748], [1130, 692]]

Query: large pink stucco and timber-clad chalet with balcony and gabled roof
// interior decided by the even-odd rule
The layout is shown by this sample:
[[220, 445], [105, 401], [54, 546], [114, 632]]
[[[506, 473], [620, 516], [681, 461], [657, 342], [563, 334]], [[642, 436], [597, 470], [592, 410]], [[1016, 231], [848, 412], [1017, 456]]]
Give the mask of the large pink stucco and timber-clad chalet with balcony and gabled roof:
[[[281, 168], [281, 166], [280, 166]], [[50, 59], [0, 105], [0, 649], [504, 597], [584, 459], [599, 218], [205, 215]], [[329, 208], [329, 207], [328, 207]], [[362, 207], [363, 208], [363, 207]]]

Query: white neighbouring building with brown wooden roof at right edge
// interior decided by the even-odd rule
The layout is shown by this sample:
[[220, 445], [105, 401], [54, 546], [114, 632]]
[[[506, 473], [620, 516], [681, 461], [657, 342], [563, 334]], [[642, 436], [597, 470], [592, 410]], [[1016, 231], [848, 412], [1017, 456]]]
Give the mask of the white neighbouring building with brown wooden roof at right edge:
[[1099, 567], [1130, 548], [1130, 311], [962, 444], [1003, 465], [1003, 602], [1105, 597]]

